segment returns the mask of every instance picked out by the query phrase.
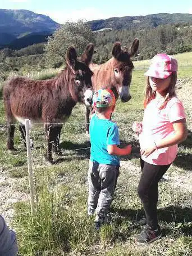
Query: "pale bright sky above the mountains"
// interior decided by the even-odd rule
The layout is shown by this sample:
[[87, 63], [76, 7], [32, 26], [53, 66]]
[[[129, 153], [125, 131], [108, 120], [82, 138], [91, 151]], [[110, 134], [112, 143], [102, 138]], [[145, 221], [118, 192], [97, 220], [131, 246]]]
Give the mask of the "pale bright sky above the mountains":
[[0, 0], [1, 9], [25, 9], [44, 14], [58, 23], [109, 17], [138, 16], [168, 12], [192, 14], [191, 0]]

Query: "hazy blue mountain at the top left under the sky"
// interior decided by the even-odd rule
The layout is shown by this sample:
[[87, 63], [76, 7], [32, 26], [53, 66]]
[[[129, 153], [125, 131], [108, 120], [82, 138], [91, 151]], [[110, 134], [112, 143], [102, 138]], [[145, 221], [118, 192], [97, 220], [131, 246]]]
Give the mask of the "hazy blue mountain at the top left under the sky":
[[[21, 34], [39, 33], [47, 31], [52, 33], [60, 24], [49, 16], [35, 14], [28, 10], [0, 9], [0, 42], [7, 44], [11, 41], [7, 37], [19, 37]], [[7, 34], [8, 32], [8, 34]], [[4, 33], [7, 36], [4, 36]], [[14, 38], [12, 38], [14, 39]]]

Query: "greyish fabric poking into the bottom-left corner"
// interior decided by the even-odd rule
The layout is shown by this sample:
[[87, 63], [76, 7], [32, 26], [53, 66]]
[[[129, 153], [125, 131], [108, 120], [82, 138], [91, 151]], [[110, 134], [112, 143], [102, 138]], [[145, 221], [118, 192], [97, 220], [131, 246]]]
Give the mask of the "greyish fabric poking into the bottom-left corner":
[[15, 233], [9, 230], [0, 215], [0, 256], [16, 256], [18, 251]]

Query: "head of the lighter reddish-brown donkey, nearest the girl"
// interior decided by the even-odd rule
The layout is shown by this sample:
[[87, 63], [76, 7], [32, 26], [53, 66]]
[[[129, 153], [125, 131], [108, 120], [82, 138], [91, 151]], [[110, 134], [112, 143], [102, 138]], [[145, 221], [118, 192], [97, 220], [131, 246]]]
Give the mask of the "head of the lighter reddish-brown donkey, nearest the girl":
[[129, 50], [122, 50], [120, 42], [116, 42], [112, 50], [112, 84], [122, 102], [127, 102], [131, 98], [129, 88], [134, 65], [130, 58], [135, 55], [138, 47], [139, 40], [135, 38]]

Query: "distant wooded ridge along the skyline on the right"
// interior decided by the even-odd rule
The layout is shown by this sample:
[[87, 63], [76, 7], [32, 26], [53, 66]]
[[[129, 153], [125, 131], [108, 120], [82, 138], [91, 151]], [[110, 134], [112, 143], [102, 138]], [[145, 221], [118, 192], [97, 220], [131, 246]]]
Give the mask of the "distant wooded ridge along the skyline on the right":
[[88, 21], [93, 31], [111, 28], [156, 28], [161, 24], [191, 23], [192, 14], [150, 14], [146, 16], [111, 17], [106, 20]]

